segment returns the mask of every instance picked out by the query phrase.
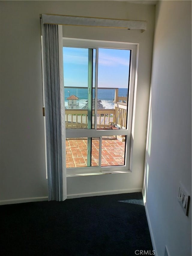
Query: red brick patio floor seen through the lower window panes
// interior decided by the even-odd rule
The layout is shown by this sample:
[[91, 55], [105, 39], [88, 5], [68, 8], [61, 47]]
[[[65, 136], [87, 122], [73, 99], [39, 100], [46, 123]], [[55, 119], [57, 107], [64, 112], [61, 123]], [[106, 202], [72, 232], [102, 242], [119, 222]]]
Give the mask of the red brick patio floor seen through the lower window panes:
[[[102, 137], [101, 166], [124, 165], [125, 142], [114, 136]], [[99, 138], [92, 138], [91, 166], [98, 166]], [[87, 166], [87, 138], [66, 139], [66, 165], [69, 167]]]

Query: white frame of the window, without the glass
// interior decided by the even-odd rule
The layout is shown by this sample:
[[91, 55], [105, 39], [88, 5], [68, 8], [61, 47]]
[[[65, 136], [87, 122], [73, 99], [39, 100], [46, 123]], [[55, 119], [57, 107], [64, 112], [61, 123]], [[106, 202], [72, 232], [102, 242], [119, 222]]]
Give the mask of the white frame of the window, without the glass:
[[[91, 166], [91, 167], [74, 167], [67, 168], [67, 176], [76, 175], [91, 175], [91, 174], [105, 174], [105, 173], [129, 173], [132, 172], [132, 152], [133, 143], [131, 143], [131, 129], [133, 125], [133, 111], [134, 111], [134, 100], [136, 99], [135, 88], [137, 82], [136, 63], [138, 62], [138, 44], [126, 43], [126, 42], [113, 42], [113, 41], [100, 41], [100, 40], [88, 40], [88, 39], [77, 39], [77, 38], [63, 38], [63, 47], [75, 47], [75, 48], [92, 48], [96, 49], [96, 59], [98, 58], [98, 48], [110, 48], [110, 49], [121, 49], [131, 50], [131, 62], [130, 62], [130, 79], [129, 79], [129, 94], [128, 94], [128, 112], [127, 112], [127, 129], [119, 130], [97, 130], [97, 122], [95, 122], [94, 129], [67, 129], [66, 138], [75, 137], [101, 137], [110, 135], [126, 135], [127, 140], [125, 144], [125, 165], [119, 166]], [[97, 85], [98, 77], [98, 63], [96, 62], [96, 81]], [[95, 90], [97, 93], [97, 89]], [[96, 113], [95, 116], [97, 117]], [[100, 143], [101, 144], [101, 143]]]

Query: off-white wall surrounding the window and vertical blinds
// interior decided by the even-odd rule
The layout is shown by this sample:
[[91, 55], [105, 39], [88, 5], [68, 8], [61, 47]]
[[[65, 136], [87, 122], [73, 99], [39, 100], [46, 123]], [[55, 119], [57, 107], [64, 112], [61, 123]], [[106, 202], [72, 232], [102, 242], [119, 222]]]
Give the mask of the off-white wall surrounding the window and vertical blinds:
[[144, 33], [64, 27], [65, 37], [140, 44], [133, 173], [69, 177], [67, 194], [140, 190], [155, 6], [117, 1], [1, 1], [1, 200], [35, 200], [48, 195], [42, 116], [41, 13], [147, 20], [148, 30]]

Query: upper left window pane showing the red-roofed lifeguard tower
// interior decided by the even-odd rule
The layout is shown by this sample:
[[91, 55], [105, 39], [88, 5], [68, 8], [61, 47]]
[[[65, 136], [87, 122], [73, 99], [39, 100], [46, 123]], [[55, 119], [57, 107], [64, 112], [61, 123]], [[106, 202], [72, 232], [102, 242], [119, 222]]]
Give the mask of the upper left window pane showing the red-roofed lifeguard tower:
[[91, 128], [92, 59], [91, 49], [63, 47], [67, 129]]

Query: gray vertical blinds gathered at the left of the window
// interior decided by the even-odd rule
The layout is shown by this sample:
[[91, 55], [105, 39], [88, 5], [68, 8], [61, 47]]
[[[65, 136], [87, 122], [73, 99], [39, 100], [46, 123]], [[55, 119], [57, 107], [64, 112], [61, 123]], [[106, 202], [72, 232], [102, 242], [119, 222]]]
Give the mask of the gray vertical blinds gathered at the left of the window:
[[42, 24], [49, 200], [67, 197], [62, 26]]

